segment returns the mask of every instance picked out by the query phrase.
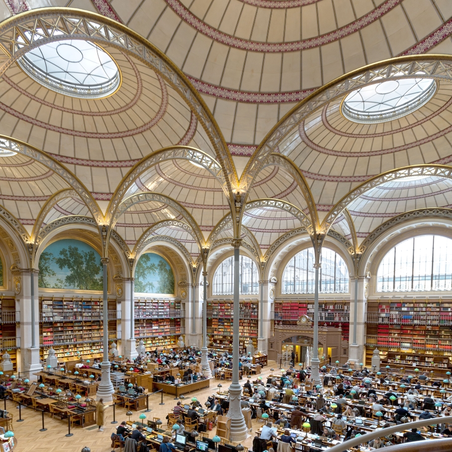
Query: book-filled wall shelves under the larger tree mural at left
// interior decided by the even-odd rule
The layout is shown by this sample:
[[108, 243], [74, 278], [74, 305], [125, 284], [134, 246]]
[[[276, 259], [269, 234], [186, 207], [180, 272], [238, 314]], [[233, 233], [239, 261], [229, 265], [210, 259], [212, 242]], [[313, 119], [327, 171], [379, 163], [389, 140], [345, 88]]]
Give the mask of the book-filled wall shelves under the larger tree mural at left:
[[[50, 347], [59, 361], [102, 356], [102, 298], [40, 297], [39, 307], [41, 359], [47, 358]], [[116, 313], [116, 299], [108, 300], [108, 310]], [[108, 320], [108, 331], [116, 336], [113, 317]]]

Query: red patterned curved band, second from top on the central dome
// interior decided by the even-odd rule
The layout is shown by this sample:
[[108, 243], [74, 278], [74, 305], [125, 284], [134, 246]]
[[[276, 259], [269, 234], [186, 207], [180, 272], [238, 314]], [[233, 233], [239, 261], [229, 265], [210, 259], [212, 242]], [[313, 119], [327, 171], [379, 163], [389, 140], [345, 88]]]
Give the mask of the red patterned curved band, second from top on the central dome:
[[375, 10], [372, 10], [358, 20], [344, 27], [338, 28], [330, 33], [325, 33], [324, 35], [303, 39], [301, 41], [269, 43], [250, 41], [220, 32], [219, 30], [211, 27], [210, 25], [207, 25], [205, 22], [197, 18], [193, 13], [185, 8], [179, 0], [164, 1], [184, 22], [186, 22], [196, 31], [207, 36], [208, 38], [229, 47], [234, 47], [236, 49], [267, 53], [295, 52], [329, 44], [331, 42], [345, 38], [346, 36], [349, 36], [353, 33], [356, 33], [357, 31], [377, 21], [386, 13], [389, 13], [396, 6], [402, 3], [402, 0], [385, 0]]

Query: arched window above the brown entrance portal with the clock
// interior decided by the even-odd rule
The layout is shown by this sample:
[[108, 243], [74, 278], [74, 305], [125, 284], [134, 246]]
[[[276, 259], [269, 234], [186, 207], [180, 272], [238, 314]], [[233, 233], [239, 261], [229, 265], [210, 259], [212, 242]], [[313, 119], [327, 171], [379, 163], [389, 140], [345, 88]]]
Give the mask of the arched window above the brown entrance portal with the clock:
[[[284, 269], [282, 293], [314, 293], [314, 249], [296, 254]], [[320, 293], [347, 293], [349, 269], [340, 255], [328, 248], [322, 249], [322, 266], [319, 272]]]

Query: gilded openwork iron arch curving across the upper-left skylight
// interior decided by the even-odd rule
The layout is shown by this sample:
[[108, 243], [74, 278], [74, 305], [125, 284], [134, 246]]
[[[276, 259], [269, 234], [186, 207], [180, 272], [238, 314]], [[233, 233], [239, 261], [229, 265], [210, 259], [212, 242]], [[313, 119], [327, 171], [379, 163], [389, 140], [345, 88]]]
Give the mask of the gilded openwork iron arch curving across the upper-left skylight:
[[107, 44], [133, 55], [175, 89], [204, 128], [223, 169], [225, 192], [230, 200], [234, 198], [232, 187], [238, 184], [234, 162], [201, 95], [162, 52], [129, 28], [98, 14], [70, 8], [39, 9], [13, 16], [4, 21], [0, 28], [0, 76], [14, 61], [33, 48], [68, 37], [89, 40], [99, 45]]

